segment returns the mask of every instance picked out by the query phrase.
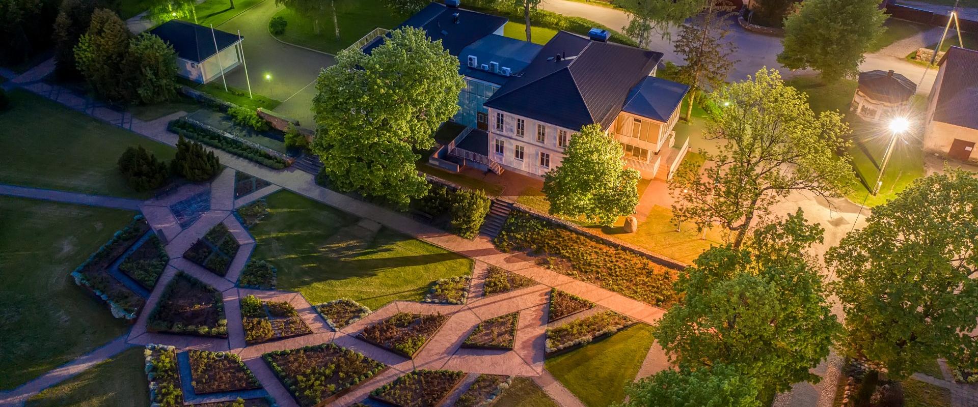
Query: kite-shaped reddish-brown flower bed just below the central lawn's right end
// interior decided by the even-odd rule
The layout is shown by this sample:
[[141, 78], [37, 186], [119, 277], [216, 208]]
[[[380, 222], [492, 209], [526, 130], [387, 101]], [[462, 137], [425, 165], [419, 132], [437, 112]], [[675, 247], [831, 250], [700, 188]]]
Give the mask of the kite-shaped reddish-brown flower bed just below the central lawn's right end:
[[358, 337], [404, 357], [414, 357], [448, 316], [398, 312], [363, 330]]

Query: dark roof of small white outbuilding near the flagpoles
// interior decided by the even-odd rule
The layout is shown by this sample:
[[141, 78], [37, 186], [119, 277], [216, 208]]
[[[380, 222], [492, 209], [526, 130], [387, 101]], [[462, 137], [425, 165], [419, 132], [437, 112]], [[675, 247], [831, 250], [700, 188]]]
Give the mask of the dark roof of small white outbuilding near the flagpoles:
[[211, 36], [210, 27], [183, 20], [163, 22], [151, 29], [150, 33], [173, 46], [177, 57], [198, 63], [217, 54], [214, 49], [215, 38], [217, 48], [220, 50], [234, 45], [239, 40], [238, 34], [219, 29], [214, 29], [214, 34]]

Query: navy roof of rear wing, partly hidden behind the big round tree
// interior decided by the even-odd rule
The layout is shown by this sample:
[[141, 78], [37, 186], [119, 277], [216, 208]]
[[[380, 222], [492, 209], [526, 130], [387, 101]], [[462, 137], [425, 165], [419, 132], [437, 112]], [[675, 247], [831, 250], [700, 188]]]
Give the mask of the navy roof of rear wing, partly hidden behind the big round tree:
[[[458, 14], [458, 19], [455, 15]], [[492, 16], [465, 9], [454, 9], [440, 3], [431, 3], [397, 28], [412, 26], [422, 28], [431, 41], [441, 40], [442, 47], [456, 57], [468, 44], [496, 32], [504, 24], [505, 17]], [[396, 28], [395, 28], [396, 29]], [[370, 54], [383, 42], [383, 37], [365, 45], [362, 50]]]

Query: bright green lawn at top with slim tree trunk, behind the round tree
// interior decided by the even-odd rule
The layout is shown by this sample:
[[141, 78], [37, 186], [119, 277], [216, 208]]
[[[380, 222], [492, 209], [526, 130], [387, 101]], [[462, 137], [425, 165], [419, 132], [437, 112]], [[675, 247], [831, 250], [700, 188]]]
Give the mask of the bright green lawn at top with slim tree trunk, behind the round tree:
[[359, 0], [337, 4], [336, 20], [339, 22], [339, 38], [336, 38], [333, 18], [329, 15], [319, 20], [316, 33], [313, 20], [301, 13], [285, 9], [275, 14], [289, 21], [286, 32], [277, 38], [292, 44], [336, 54], [370, 33], [374, 28], [393, 28], [407, 16], [398, 16], [383, 6], [381, 0]]

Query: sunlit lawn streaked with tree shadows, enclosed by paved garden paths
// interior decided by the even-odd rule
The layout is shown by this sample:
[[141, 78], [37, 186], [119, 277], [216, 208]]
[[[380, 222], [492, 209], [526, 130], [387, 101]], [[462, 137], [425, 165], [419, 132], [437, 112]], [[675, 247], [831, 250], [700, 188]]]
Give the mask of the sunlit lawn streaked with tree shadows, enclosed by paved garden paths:
[[251, 228], [253, 259], [278, 267], [278, 288], [312, 304], [349, 298], [372, 309], [420, 301], [431, 282], [471, 272], [472, 261], [288, 191], [268, 197], [269, 216]]

